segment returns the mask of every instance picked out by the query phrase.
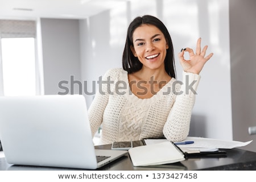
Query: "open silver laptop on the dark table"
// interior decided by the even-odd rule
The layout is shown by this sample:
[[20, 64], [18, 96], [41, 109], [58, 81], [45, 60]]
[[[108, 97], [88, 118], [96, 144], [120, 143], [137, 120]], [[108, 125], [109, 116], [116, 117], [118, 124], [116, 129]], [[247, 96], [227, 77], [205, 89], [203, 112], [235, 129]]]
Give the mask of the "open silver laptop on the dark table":
[[96, 169], [127, 154], [94, 149], [81, 95], [0, 97], [0, 140], [7, 163], [26, 166]]

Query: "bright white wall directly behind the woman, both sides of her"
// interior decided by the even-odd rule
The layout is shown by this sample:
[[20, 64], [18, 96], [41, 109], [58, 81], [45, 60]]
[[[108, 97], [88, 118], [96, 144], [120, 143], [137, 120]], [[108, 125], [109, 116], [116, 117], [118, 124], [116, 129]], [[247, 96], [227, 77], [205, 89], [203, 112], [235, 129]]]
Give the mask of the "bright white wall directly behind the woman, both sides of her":
[[[81, 80], [98, 80], [109, 68], [121, 67], [129, 23], [138, 15], [158, 16], [166, 24], [175, 55], [195, 48], [197, 38], [214, 56], [201, 72], [191, 121], [191, 136], [232, 139], [228, 0], [141, 0], [80, 20]], [[181, 68], [176, 56], [177, 79]], [[92, 84], [89, 84], [89, 86]], [[88, 106], [92, 96], [86, 96]]]

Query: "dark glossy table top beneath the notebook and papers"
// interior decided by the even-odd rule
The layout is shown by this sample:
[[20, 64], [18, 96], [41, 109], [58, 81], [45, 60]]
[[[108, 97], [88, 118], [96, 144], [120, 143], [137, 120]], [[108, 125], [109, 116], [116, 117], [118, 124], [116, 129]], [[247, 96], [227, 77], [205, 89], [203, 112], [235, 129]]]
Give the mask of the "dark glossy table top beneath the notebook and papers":
[[[110, 145], [96, 146], [98, 149], [109, 149]], [[154, 167], [134, 167], [129, 155], [103, 167], [102, 170], [256, 170], [256, 152], [239, 148], [221, 149], [226, 151], [223, 156], [190, 157], [182, 162]]]

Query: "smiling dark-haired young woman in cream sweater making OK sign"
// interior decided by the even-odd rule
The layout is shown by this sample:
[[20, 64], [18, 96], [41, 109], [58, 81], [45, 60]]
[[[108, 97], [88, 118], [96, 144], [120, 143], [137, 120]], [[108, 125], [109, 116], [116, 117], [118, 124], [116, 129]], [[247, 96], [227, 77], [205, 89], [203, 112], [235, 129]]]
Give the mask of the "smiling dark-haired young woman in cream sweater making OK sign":
[[[94, 135], [102, 125], [101, 144], [143, 138], [183, 140], [189, 133], [199, 73], [213, 53], [205, 56], [197, 40], [196, 52], [181, 49], [183, 81], [176, 81], [174, 48], [166, 26], [154, 16], [137, 17], [127, 30], [123, 68], [102, 77], [89, 107]], [[190, 60], [184, 59], [184, 52]]]

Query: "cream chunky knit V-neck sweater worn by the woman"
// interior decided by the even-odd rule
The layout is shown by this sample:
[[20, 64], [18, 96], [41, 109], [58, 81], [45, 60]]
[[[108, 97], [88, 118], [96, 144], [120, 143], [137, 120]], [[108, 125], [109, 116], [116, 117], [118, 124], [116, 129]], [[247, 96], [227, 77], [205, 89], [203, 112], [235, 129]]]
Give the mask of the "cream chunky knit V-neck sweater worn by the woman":
[[[195, 103], [192, 90], [197, 88], [199, 75], [183, 72], [183, 84], [172, 78], [146, 99], [131, 92], [127, 72], [122, 68], [106, 72], [102, 81], [107, 80], [109, 84], [99, 85], [88, 110], [92, 135], [102, 125], [101, 144], [162, 137], [176, 142], [187, 137]], [[188, 85], [193, 85], [192, 89]]]

